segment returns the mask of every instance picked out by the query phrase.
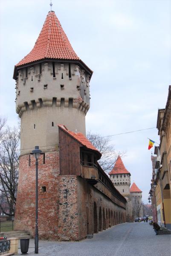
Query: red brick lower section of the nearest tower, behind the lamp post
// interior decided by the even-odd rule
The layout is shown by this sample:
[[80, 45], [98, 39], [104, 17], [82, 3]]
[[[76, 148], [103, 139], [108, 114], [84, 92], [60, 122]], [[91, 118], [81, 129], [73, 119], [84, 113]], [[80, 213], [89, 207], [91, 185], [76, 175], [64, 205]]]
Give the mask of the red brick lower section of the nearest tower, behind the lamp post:
[[[29, 161], [30, 157], [30, 161]], [[35, 233], [35, 157], [20, 157], [20, 173], [15, 213], [15, 230]], [[41, 238], [58, 236], [58, 174], [59, 152], [45, 153], [39, 158], [38, 171], [38, 227]], [[46, 187], [46, 192], [42, 191]]]

